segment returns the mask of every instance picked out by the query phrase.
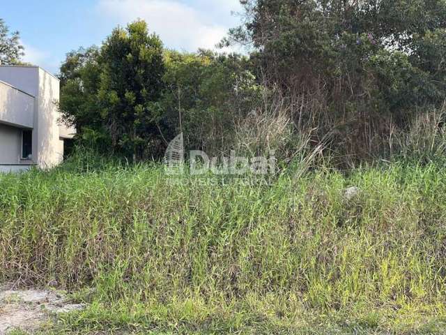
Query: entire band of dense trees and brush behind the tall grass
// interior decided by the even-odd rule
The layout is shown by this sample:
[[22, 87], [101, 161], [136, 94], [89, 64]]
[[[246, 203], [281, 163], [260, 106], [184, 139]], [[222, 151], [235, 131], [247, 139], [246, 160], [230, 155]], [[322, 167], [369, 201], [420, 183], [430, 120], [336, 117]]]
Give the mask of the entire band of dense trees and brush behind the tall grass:
[[250, 45], [249, 57], [162, 50], [144, 22], [68, 54], [61, 108], [80, 137], [139, 159], [180, 132], [192, 149], [275, 142], [286, 156], [308, 134], [354, 160], [446, 100], [445, 0], [240, 2], [243, 24], [222, 45]]

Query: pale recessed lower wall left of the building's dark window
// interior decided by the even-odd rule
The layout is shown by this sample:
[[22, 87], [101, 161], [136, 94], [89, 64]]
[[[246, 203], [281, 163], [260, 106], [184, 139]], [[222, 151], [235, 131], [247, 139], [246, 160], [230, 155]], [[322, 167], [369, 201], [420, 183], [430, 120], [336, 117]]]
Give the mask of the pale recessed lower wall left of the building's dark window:
[[0, 124], [0, 165], [20, 164], [22, 156], [22, 130]]

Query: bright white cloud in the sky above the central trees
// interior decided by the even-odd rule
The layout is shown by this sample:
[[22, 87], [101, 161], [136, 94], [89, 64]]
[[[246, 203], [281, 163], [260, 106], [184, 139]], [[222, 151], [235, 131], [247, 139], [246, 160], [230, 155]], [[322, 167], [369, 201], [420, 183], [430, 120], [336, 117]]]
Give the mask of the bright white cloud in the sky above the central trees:
[[230, 12], [238, 9], [237, 4], [238, 0], [100, 0], [98, 9], [121, 25], [144, 19], [167, 47], [195, 51], [220, 42], [233, 26]]

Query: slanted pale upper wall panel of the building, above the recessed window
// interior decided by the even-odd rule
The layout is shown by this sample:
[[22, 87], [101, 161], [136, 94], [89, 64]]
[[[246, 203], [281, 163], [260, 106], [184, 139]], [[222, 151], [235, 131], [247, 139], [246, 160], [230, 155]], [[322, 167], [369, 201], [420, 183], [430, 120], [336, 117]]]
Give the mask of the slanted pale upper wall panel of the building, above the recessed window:
[[0, 122], [33, 128], [34, 98], [5, 82], [0, 82]]

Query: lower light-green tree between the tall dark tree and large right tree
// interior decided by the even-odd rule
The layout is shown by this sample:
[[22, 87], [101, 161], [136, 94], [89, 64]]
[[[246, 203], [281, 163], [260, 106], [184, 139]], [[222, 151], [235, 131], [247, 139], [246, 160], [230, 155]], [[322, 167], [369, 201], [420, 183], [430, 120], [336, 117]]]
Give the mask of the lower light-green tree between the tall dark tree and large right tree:
[[231, 149], [236, 121], [246, 117], [259, 100], [259, 84], [249, 59], [207, 50], [167, 51], [165, 64], [160, 107], [167, 129], [183, 132], [190, 149], [208, 154]]

